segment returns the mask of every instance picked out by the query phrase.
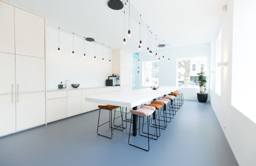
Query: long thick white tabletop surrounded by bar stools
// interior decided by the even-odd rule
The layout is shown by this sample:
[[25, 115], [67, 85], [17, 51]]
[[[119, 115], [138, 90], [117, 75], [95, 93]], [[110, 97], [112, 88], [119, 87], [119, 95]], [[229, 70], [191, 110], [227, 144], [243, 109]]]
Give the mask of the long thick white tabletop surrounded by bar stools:
[[85, 101], [132, 108], [179, 89], [178, 86], [160, 86], [157, 90], [146, 88], [125, 92], [110, 92], [109, 94], [85, 97]]

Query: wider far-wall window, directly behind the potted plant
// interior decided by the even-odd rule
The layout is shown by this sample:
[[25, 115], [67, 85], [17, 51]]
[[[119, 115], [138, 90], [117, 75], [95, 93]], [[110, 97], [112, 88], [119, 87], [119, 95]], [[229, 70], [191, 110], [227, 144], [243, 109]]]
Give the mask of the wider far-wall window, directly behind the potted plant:
[[196, 66], [202, 66], [205, 68], [206, 58], [189, 58], [189, 59], [178, 59], [178, 86], [183, 87], [198, 87], [198, 73], [201, 68]]

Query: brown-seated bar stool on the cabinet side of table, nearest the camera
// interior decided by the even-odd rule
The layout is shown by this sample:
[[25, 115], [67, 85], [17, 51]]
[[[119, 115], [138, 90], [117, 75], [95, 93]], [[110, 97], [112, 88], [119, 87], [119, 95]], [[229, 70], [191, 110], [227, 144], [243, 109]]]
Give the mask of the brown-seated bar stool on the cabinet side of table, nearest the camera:
[[[102, 123], [101, 125], [99, 125], [99, 123], [100, 123], [100, 112], [99, 112], [99, 119], [98, 119], [98, 126], [97, 126], [97, 134], [98, 134], [99, 136], [103, 136], [103, 137], [106, 137], [106, 138], [110, 138], [110, 139], [111, 139], [111, 138], [112, 138], [112, 135], [113, 135], [112, 131], [113, 131], [114, 129], [118, 129], [118, 130], [120, 130], [120, 131], [123, 131], [123, 130], [124, 130], [124, 123], [123, 123], [123, 120], [122, 120], [122, 112], [121, 112], [121, 110], [120, 110], [120, 113], [121, 113], [121, 122], [122, 122], [122, 124], [119, 125], [119, 126], [116, 126], [115, 128], [112, 127], [112, 110], [115, 110], [115, 112], [116, 112], [116, 108], [120, 108], [119, 106], [112, 106], [112, 105], [101, 106], [101, 105], [99, 105], [98, 107], [100, 108], [100, 112], [101, 112], [101, 110], [109, 110], [109, 111], [110, 111], [110, 112], [109, 112], [109, 113], [110, 113], [110, 115], [109, 115], [110, 120], [107, 121], [107, 122], [105, 122], [105, 123]], [[121, 109], [121, 108], [120, 108], [120, 109]], [[114, 119], [115, 119], [115, 114], [114, 114]], [[100, 133], [99, 133], [99, 127], [105, 125], [106, 123], [109, 123], [109, 126], [110, 126], [110, 128], [111, 128], [111, 137], [104, 136], [103, 134], [100, 134]], [[121, 126], [122, 126], [122, 127], [121, 127]], [[120, 128], [121, 128], [121, 129], [120, 129]]]

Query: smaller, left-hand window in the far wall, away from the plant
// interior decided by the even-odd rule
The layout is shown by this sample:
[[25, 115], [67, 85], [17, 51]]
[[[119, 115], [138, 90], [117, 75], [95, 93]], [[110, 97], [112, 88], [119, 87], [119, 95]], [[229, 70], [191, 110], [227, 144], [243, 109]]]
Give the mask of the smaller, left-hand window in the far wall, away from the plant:
[[142, 63], [142, 86], [159, 85], [158, 61], [146, 61]]

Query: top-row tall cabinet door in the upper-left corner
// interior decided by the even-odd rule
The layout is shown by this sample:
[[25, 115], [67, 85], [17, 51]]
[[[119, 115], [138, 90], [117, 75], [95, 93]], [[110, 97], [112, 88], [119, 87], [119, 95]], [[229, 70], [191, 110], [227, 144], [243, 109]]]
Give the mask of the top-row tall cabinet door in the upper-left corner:
[[0, 1], [0, 51], [14, 54], [14, 7]]

